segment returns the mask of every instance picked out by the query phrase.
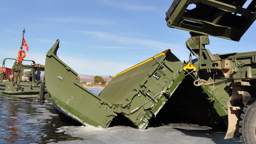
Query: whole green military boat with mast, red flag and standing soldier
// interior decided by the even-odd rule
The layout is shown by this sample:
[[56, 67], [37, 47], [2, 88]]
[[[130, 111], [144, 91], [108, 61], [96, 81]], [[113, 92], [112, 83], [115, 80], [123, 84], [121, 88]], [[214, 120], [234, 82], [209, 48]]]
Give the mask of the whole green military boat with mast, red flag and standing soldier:
[[[24, 60], [26, 52], [23, 46], [29, 51], [29, 47], [24, 39], [25, 29], [22, 33], [22, 42], [17, 57], [5, 58], [3, 65], [0, 67], [0, 95], [18, 98], [36, 99], [39, 101], [50, 100], [44, 80], [44, 65], [36, 64], [33, 60]], [[7, 68], [6, 60], [16, 61], [15, 67]], [[17, 62], [18, 61], [18, 62]], [[22, 62], [28, 64], [24, 65]], [[18, 71], [20, 72], [18, 73]], [[13, 72], [12, 72], [13, 71]], [[19, 74], [19, 79], [13, 75]], [[12, 80], [9, 79], [11, 76]], [[16, 78], [14, 83], [14, 79]]]

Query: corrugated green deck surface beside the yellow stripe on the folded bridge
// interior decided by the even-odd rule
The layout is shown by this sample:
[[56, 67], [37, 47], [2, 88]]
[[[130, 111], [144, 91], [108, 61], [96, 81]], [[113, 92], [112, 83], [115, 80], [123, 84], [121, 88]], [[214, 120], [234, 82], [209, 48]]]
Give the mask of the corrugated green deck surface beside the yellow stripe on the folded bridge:
[[[158, 61], [165, 59], [166, 55], [161, 55], [156, 57]], [[143, 63], [143, 62], [142, 62]], [[141, 64], [141, 63], [140, 63]], [[156, 69], [159, 64], [156, 60], [151, 59], [143, 64], [138, 64], [139, 66], [126, 71], [120, 75], [115, 76], [109, 84], [100, 93], [100, 97], [104, 98], [112, 104], [122, 104], [122, 102], [130, 96], [131, 92], [143, 84], [152, 71]]]

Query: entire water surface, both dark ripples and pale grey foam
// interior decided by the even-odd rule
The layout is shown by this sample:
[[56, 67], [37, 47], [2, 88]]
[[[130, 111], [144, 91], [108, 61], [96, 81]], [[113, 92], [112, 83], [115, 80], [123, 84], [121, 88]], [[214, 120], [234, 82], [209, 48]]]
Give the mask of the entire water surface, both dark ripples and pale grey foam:
[[[102, 89], [88, 88], [95, 94]], [[218, 143], [241, 144], [239, 139], [224, 140], [225, 132], [192, 124], [149, 126], [139, 130], [114, 125], [107, 129], [84, 127], [61, 118], [50, 102], [0, 96], [0, 143]]]

